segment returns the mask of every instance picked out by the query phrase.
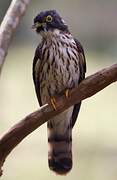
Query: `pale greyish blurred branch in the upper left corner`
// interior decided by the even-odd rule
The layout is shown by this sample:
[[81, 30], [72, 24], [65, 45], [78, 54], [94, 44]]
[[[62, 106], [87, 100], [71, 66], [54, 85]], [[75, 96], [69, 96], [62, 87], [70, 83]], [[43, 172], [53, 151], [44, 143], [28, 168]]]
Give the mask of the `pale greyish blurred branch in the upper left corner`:
[[16, 30], [24, 15], [30, 0], [12, 0], [11, 5], [0, 26], [0, 73], [8, 52], [8, 48]]

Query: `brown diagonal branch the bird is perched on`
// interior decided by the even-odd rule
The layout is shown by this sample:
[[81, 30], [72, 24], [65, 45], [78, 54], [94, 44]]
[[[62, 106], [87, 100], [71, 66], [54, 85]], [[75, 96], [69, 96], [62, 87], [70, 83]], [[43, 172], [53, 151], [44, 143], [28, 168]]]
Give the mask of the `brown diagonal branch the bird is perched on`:
[[2, 166], [9, 153], [31, 132], [47, 122], [52, 117], [63, 112], [70, 106], [93, 96], [104, 89], [109, 84], [117, 81], [117, 64], [98, 71], [87, 77], [79, 86], [70, 91], [69, 98], [65, 96], [56, 97], [57, 111], [51, 107], [51, 103], [42, 106], [39, 110], [29, 114], [19, 123], [14, 125], [0, 139], [0, 174], [2, 175]]

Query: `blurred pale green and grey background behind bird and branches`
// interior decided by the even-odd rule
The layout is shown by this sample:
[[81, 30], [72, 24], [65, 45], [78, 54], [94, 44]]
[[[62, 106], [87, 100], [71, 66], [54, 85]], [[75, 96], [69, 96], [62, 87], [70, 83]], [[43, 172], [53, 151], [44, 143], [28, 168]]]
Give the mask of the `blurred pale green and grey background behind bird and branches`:
[[[10, 4], [0, 1], [0, 21]], [[41, 10], [56, 9], [85, 49], [87, 75], [117, 62], [116, 0], [33, 0], [14, 35], [0, 79], [0, 134], [38, 108], [32, 59], [40, 37], [31, 30]], [[47, 165], [46, 124], [30, 134], [8, 157], [2, 180], [117, 179], [117, 83], [82, 104], [73, 130], [74, 166], [56, 176]]]

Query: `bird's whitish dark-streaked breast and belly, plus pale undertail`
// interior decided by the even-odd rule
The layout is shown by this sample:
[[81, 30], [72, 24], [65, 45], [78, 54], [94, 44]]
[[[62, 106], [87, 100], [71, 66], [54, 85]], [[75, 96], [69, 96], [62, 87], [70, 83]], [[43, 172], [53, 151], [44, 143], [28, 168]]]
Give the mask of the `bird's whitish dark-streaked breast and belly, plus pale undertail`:
[[[69, 46], [69, 44], [76, 46], [75, 41], [70, 34], [68, 34], [68, 37], [66, 37], [64, 34], [60, 34], [59, 30], [55, 30], [53, 32], [51, 31], [45, 32], [45, 33], [43, 32], [41, 33], [41, 35], [44, 38], [46, 38], [46, 44], [43, 45], [42, 51], [44, 51], [45, 48], [46, 49], [48, 48], [48, 50], [51, 52], [49, 54], [49, 59], [47, 59], [47, 51], [45, 53], [45, 56], [43, 59], [44, 65], [42, 68], [42, 74], [43, 74], [43, 70], [44, 72], [47, 72], [48, 61], [50, 62], [50, 70], [49, 70], [49, 74], [45, 73], [45, 78], [43, 79], [43, 81], [41, 81], [41, 84], [40, 84], [40, 91], [41, 91], [40, 93], [42, 97], [41, 98], [42, 103], [45, 104], [47, 102], [47, 99], [50, 98], [50, 95], [48, 94], [48, 89], [51, 89], [51, 96], [54, 96], [57, 93], [59, 94], [61, 91], [64, 91], [65, 89], [72, 88], [73, 81], [74, 81], [75, 86], [78, 85], [79, 68], [77, 72], [75, 72], [74, 59], [78, 62], [79, 57], [78, 57], [77, 50], [74, 50], [75, 54], [77, 55], [76, 57], [74, 53], [72, 52], [72, 48]], [[64, 42], [67, 43], [68, 46], [63, 45]], [[59, 57], [59, 54], [56, 53], [55, 51], [55, 45], [57, 47], [57, 43], [59, 43], [58, 50], [60, 51], [60, 57]], [[69, 56], [66, 51], [67, 48], [71, 57], [70, 65], [69, 65], [70, 78], [69, 78], [69, 73], [66, 70], [66, 62], [69, 59]], [[51, 66], [53, 57], [55, 57], [57, 69], [56, 67]], [[66, 62], [63, 63], [62, 57], [64, 58]], [[56, 79], [54, 78], [54, 73], [56, 73]], [[40, 79], [41, 78], [42, 77], [40, 75]], [[58, 83], [57, 85], [58, 89], [56, 89], [56, 83]], [[73, 107], [70, 107], [65, 112], [59, 114], [58, 116], [54, 117], [51, 120], [54, 125], [54, 131], [56, 131], [56, 133], [58, 132], [59, 134], [64, 134], [64, 132], [68, 128], [72, 112], [73, 112]]]

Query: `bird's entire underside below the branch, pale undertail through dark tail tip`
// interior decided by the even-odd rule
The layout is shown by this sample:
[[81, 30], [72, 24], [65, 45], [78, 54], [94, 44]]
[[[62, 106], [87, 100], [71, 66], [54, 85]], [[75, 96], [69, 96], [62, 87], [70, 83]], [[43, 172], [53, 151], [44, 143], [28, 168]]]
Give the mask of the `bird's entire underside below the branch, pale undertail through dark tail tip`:
[[48, 127], [49, 168], [60, 175], [72, 169], [72, 123], [73, 107], [51, 119]]

